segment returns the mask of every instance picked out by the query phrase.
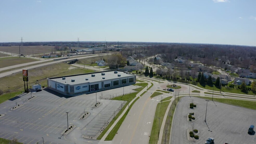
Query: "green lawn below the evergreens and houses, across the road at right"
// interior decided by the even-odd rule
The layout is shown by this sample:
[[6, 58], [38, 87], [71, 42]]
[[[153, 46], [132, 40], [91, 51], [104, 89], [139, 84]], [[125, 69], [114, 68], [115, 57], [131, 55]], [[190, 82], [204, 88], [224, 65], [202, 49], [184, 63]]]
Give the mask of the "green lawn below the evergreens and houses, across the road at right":
[[[215, 85], [213, 85], [213, 87], [212, 87], [212, 86], [208, 86], [206, 84], [201, 85], [200, 83], [197, 83], [197, 86], [200, 88], [209, 89], [209, 90], [213, 90], [213, 87], [214, 87], [214, 91], [220, 91], [220, 88], [216, 87]], [[247, 86], [247, 87], [251, 87], [251, 86]], [[247, 91], [247, 93], [242, 92], [241, 89], [238, 89], [236, 87], [236, 85], [234, 88], [230, 88], [230, 87], [228, 87], [228, 85], [225, 87], [221, 87], [221, 91], [226, 92], [226, 93], [253, 95], [252, 91]]]

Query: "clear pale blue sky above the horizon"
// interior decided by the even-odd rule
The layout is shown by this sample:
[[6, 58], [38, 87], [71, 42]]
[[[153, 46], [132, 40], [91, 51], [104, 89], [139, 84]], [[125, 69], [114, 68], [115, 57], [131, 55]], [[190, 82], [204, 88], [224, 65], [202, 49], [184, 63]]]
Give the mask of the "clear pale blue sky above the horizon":
[[0, 0], [0, 42], [143, 41], [256, 46], [256, 0]]

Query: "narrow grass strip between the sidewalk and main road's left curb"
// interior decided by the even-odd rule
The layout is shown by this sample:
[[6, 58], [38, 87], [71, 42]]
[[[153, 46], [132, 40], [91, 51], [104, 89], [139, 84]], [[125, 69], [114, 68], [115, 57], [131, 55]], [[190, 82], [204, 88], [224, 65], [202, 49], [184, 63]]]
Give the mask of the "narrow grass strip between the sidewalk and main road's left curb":
[[121, 119], [117, 122], [117, 124], [114, 126], [114, 128], [110, 131], [110, 133], [107, 135], [105, 141], [111, 141], [113, 140], [114, 136], [116, 135], [119, 127], [121, 126], [121, 124], [123, 123], [125, 117], [127, 116], [129, 110], [131, 109], [132, 105], [139, 99], [139, 97], [137, 97], [137, 99], [135, 99], [132, 104], [129, 106], [129, 109], [126, 110], [126, 113], [121, 117]]

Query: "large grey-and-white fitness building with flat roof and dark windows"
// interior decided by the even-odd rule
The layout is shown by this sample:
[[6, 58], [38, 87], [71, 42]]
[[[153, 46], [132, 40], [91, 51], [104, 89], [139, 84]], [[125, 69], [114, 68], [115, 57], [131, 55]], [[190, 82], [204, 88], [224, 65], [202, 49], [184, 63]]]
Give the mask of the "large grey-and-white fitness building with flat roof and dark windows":
[[47, 78], [48, 88], [65, 95], [93, 93], [136, 83], [136, 75], [120, 70]]

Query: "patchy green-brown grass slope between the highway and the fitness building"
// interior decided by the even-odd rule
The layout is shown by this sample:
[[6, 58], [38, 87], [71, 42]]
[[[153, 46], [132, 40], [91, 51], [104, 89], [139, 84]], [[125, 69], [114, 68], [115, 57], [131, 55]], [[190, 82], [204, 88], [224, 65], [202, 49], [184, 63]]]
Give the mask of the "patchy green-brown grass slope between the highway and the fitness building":
[[[91, 73], [91, 72], [94, 72], [94, 70], [77, 68], [65, 63], [58, 63], [58, 64], [46, 66], [46, 67], [31, 69], [31, 70], [28, 70], [28, 75], [29, 75], [28, 87], [36, 83], [36, 80], [38, 80], [42, 86], [47, 87], [47, 79], [46, 79], [47, 77], [65, 76], [65, 75]], [[22, 73], [1, 77], [0, 81], [4, 82], [4, 83], [0, 83], [0, 89], [5, 92], [3, 95], [0, 96], [1, 103], [18, 94], [21, 94], [21, 91], [24, 91], [24, 82], [22, 81]]]

